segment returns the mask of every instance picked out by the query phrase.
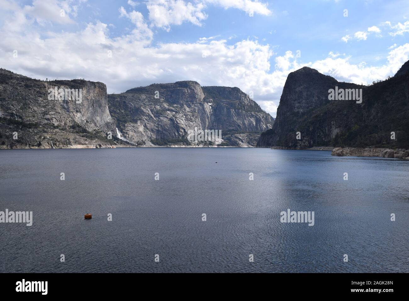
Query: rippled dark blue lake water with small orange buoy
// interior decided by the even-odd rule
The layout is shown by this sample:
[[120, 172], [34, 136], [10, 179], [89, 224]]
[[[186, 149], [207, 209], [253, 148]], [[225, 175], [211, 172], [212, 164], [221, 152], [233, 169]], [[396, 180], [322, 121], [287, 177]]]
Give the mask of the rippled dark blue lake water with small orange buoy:
[[408, 175], [318, 151], [1, 150], [0, 211], [34, 221], [0, 223], [0, 272], [409, 272]]

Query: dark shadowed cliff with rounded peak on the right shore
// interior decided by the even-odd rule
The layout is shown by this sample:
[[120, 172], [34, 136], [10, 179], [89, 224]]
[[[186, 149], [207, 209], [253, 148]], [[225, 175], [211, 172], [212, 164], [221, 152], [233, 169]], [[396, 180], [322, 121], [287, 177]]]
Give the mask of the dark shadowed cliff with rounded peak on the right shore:
[[[338, 82], [308, 67], [290, 73], [273, 128], [261, 134], [257, 145], [288, 149], [408, 147], [409, 73], [404, 71], [405, 65], [393, 78], [370, 86]], [[362, 89], [362, 103], [328, 100], [328, 90], [335, 87]], [[395, 132], [395, 140], [391, 132]]]

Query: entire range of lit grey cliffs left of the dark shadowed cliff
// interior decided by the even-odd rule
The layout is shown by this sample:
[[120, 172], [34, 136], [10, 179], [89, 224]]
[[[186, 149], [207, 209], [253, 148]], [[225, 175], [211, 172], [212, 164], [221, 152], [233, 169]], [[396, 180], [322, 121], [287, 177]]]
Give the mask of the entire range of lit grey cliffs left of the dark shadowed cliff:
[[[273, 122], [238, 88], [183, 81], [107, 95], [102, 82], [43, 81], [0, 69], [3, 149], [247, 147], [255, 146]], [[189, 141], [189, 130], [195, 128], [221, 130], [221, 140]]]

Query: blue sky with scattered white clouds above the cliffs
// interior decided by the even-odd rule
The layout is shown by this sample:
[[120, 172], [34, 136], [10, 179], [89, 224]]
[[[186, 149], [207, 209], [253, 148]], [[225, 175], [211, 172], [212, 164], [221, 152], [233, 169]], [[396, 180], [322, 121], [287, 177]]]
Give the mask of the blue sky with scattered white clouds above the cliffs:
[[108, 93], [196, 80], [276, 116], [308, 66], [370, 84], [409, 60], [409, 0], [0, 0], [0, 67]]

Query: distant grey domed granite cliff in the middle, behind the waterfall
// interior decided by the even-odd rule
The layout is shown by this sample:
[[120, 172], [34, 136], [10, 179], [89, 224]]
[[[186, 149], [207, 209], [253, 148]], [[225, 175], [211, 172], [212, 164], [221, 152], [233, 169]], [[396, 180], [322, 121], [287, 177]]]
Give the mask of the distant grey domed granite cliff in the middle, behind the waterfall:
[[195, 127], [221, 130], [222, 145], [249, 146], [255, 144], [254, 135], [274, 121], [240, 89], [201, 87], [194, 81], [110, 94], [108, 106], [124, 138], [148, 146], [195, 145], [187, 140], [188, 131]]

